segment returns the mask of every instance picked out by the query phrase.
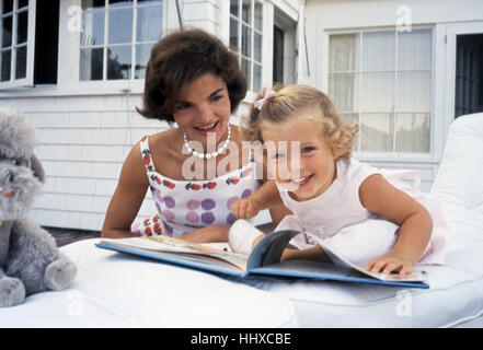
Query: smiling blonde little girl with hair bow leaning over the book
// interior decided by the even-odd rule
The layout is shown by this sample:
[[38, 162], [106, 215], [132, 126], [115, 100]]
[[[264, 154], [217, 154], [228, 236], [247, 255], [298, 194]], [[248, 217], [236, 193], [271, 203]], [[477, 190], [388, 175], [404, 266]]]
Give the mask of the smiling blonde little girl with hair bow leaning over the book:
[[[234, 203], [238, 218], [255, 215], [278, 192], [292, 214], [276, 231], [310, 232], [370, 271], [405, 275], [417, 262], [445, 262], [449, 229], [439, 202], [401, 179], [410, 174], [417, 182], [414, 173], [377, 170], [352, 158], [358, 127], [342, 122], [322, 92], [301, 85], [266, 90], [246, 124], [245, 137], [264, 142], [275, 180]], [[258, 234], [231, 230], [229, 241], [246, 250]], [[287, 248], [283, 259], [327, 259], [308, 235], [291, 244], [298, 249]]]

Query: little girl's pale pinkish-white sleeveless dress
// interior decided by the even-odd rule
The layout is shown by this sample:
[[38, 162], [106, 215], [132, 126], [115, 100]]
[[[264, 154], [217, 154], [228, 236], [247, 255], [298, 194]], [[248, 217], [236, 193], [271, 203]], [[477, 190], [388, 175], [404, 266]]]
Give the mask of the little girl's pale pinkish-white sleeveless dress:
[[[320, 196], [306, 201], [294, 200], [277, 184], [281, 200], [294, 215], [280, 221], [278, 230], [311, 233], [342, 256], [353, 261], [369, 261], [389, 254], [395, 244], [399, 225], [373, 214], [359, 200], [360, 184], [372, 174], [381, 174], [399, 189], [419, 201], [433, 218], [433, 233], [419, 262], [444, 264], [450, 233], [448, 220], [439, 200], [418, 190], [419, 178], [411, 171], [378, 170], [356, 159], [336, 161], [336, 178]], [[413, 184], [409, 184], [411, 179]], [[300, 234], [290, 242], [298, 248], [317, 244], [310, 235]]]

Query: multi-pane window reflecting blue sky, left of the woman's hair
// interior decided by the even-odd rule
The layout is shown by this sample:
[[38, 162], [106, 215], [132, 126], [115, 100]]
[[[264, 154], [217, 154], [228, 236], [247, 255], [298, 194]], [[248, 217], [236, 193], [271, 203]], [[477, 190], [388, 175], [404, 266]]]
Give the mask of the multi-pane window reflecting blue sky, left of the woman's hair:
[[79, 80], [143, 79], [162, 0], [82, 0]]

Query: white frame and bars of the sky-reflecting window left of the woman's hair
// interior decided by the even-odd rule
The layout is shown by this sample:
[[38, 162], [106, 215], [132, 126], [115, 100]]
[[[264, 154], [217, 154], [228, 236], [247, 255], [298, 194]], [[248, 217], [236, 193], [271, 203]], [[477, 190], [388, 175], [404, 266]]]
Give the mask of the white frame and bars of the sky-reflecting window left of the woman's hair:
[[[162, 8], [162, 18], [160, 21], [162, 21], [161, 23], [161, 33], [165, 33], [169, 24], [168, 24], [168, 1], [166, 0], [162, 0], [161, 1], [161, 8]], [[81, 4], [81, 1], [79, 0], [79, 7]], [[106, 7], [107, 4], [107, 0], [105, 2], [105, 5], [103, 8], [103, 10], [99, 11], [99, 12], [103, 12], [105, 13], [105, 18], [108, 18], [107, 12], [110, 11], [110, 9]], [[123, 8], [133, 8], [135, 11], [133, 13], [133, 37], [131, 37], [131, 42], [130, 42], [130, 47], [135, 48], [136, 45], [138, 44], [136, 42], [136, 31], [137, 31], [137, 9], [139, 8], [150, 8], [153, 5], [140, 5], [138, 7], [138, 2], [135, 1], [133, 2], [133, 7], [115, 7], [115, 9], [123, 9]], [[83, 13], [84, 11], [81, 12], [81, 21], [83, 21]], [[82, 27], [82, 24], [81, 24]], [[77, 55], [73, 57], [73, 61], [74, 61], [74, 77], [72, 79], [72, 85], [76, 90], [90, 90], [90, 91], [99, 91], [101, 92], [115, 92], [117, 91], [122, 91], [125, 93], [139, 93], [142, 92], [143, 86], [145, 86], [145, 78], [141, 79], [107, 79], [107, 67], [106, 67], [106, 52], [105, 50], [103, 50], [103, 79], [102, 80], [81, 80], [80, 79], [80, 52], [81, 52], [81, 45], [80, 45], [80, 37], [82, 33], [77, 33], [78, 35], [76, 35], [76, 51]], [[107, 48], [112, 45], [110, 45], [107, 43], [107, 36], [108, 36], [108, 20], [104, 21], [104, 43], [102, 45], [102, 48]], [[152, 45], [154, 45], [156, 42], [152, 43]], [[114, 45], [116, 46], [116, 45]], [[133, 58], [135, 57], [136, 52], [135, 49], [131, 50], [131, 61]], [[133, 65], [131, 65], [133, 66]], [[131, 68], [131, 77], [134, 74], [133, 72], [133, 68]]]

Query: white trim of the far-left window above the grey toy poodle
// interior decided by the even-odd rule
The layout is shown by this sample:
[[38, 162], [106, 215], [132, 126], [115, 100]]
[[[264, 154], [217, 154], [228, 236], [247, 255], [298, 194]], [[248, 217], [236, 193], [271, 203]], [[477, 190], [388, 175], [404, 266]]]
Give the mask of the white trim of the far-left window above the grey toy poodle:
[[[13, 0], [13, 8], [18, 8], [19, 0]], [[28, 23], [27, 23], [27, 58], [26, 58], [26, 74], [23, 79], [13, 79], [15, 74], [15, 55], [13, 46], [16, 40], [16, 20], [13, 16], [12, 21], [12, 57], [10, 66], [10, 81], [0, 82], [0, 91], [14, 88], [33, 86], [34, 85], [34, 58], [35, 58], [35, 13], [36, 0], [28, 0]]]

